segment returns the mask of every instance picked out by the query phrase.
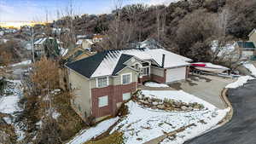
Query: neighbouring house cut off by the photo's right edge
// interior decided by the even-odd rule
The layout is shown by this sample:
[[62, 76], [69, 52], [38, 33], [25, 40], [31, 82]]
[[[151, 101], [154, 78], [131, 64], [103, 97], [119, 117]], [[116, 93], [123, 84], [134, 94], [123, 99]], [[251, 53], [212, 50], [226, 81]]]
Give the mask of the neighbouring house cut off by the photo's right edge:
[[256, 29], [253, 29], [248, 37], [249, 41], [239, 41], [235, 45], [243, 60], [253, 60], [256, 56]]

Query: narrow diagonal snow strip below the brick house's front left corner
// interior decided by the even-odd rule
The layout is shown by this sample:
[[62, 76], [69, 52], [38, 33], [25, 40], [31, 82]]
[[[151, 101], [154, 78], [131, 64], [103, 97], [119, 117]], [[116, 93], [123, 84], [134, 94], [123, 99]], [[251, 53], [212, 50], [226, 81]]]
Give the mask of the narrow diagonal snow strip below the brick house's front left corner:
[[90, 139], [101, 135], [106, 132], [109, 127], [115, 124], [119, 118], [111, 118], [103, 121], [100, 124], [97, 124], [96, 127], [92, 127], [89, 130], [82, 130], [79, 135], [75, 136], [72, 141], [69, 141], [67, 144], [82, 144], [85, 141], [89, 141]]

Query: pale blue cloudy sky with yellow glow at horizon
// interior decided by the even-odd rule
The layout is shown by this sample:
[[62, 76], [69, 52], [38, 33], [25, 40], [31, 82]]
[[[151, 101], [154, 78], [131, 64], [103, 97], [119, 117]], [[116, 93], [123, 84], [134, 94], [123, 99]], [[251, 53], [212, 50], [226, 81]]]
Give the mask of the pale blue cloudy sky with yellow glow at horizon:
[[[117, 0], [0, 0], [0, 22], [55, 20], [59, 12], [67, 14], [67, 6], [73, 3], [75, 14], [105, 14], [114, 9]], [[122, 0], [122, 5], [144, 3], [169, 4], [177, 0]], [[58, 12], [57, 12], [58, 11]], [[48, 19], [47, 16], [48, 15]]]

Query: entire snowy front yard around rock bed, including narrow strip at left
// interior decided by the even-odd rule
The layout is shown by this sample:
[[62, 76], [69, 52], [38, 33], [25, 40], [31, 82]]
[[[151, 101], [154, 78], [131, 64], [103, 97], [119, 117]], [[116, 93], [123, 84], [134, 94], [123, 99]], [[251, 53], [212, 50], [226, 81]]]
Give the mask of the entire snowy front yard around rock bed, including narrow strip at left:
[[[144, 97], [172, 100], [184, 103], [198, 103], [203, 105], [202, 109], [192, 111], [165, 111], [143, 107], [136, 101], [128, 101], [125, 105], [128, 107], [128, 114], [122, 118], [112, 118], [97, 124], [96, 127], [89, 130], [82, 130], [68, 144], [81, 144], [85, 141], [101, 135], [109, 127], [113, 126], [110, 134], [119, 131], [123, 134], [125, 144], [143, 144], [144, 142], [166, 135], [175, 130], [179, 131], [172, 141], [166, 138], [162, 143], [182, 144], [197, 135], [218, 127], [218, 123], [226, 116], [230, 108], [218, 109], [207, 101], [203, 101], [194, 95], [189, 95], [182, 90], [142, 90], [140, 93]], [[119, 120], [119, 121], [118, 121]]]

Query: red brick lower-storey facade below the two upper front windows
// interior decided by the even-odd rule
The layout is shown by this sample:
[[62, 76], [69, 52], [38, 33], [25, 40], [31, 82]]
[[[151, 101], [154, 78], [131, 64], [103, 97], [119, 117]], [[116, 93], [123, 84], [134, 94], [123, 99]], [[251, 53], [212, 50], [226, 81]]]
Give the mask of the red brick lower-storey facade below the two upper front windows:
[[[110, 85], [105, 88], [91, 89], [91, 100], [92, 100], [92, 116], [95, 118], [101, 118], [103, 116], [115, 115], [119, 102], [123, 102], [124, 93], [132, 93], [136, 91], [136, 84], [124, 84], [124, 85]], [[98, 107], [98, 98], [101, 96], [108, 95], [108, 106]]]

